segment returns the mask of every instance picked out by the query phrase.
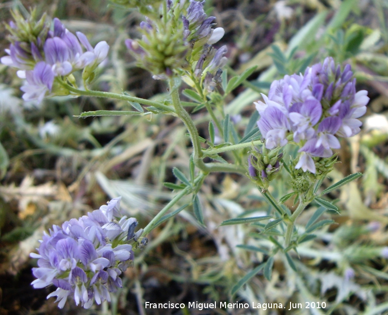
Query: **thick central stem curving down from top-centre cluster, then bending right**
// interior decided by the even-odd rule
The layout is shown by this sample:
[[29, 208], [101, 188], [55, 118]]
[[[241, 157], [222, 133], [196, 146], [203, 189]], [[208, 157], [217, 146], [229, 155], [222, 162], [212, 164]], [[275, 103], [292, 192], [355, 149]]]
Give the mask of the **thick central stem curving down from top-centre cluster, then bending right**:
[[226, 173], [241, 173], [245, 174], [245, 169], [242, 166], [235, 164], [224, 163], [207, 163], [202, 160], [203, 152], [201, 142], [199, 141], [198, 130], [194, 125], [193, 120], [187, 111], [183, 108], [179, 99], [178, 87], [174, 84], [174, 79], [170, 80], [171, 99], [177, 116], [183, 121], [187, 130], [189, 131], [191, 141], [193, 143], [193, 160], [196, 167], [198, 167], [205, 174], [210, 172], [226, 172]]

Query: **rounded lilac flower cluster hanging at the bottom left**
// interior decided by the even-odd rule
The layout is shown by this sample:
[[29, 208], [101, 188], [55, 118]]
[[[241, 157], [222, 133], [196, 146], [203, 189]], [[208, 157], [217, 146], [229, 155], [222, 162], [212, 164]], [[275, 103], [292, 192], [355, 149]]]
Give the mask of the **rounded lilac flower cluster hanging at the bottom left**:
[[129, 240], [141, 235], [134, 233], [135, 218], [120, 215], [121, 197], [108, 205], [89, 212], [87, 216], [71, 219], [62, 227], [53, 225], [45, 233], [38, 249], [38, 268], [32, 268], [37, 278], [34, 288], [54, 284], [57, 289], [47, 298], [57, 297], [58, 307], [63, 308], [67, 297], [74, 298], [84, 308], [110, 301], [110, 292], [122, 286], [119, 275], [133, 261]]

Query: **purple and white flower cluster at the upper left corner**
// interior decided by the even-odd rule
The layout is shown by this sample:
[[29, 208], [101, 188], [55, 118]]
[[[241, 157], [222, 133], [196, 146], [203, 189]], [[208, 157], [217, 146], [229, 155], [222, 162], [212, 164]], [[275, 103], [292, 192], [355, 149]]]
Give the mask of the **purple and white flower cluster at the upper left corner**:
[[27, 38], [23, 26], [31, 25], [31, 21], [11, 22], [8, 27], [12, 34], [12, 44], [9, 49], [5, 49], [8, 56], [2, 57], [1, 63], [20, 69], [17, 75], [26, 79], [21, 88], [24, 100], [41, 102], [45, 96], [54, 92], [55, 77], [65, 77], [85, 67], [91, 74], [108, 55], [109, 46], [105, 41], [93, 48], [83, 33], [77, 32], [77, 36], [74, 35], [58, 18], [53, 20], [52, 31], [48, 31], [49, 22], [44, 20], [42, 24], [46, 26], [41, 33], [36, 36], [32, 28]]

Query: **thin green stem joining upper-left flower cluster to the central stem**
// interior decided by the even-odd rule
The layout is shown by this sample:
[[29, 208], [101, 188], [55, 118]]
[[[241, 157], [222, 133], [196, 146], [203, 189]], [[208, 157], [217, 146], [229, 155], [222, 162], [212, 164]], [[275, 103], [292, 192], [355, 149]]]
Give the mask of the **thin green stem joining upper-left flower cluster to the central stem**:
[[85, 91], [85, 90], [77, 89], [77, 88], [65, 83], [62, 80], [58, 80], [58, 82], [61, 85], [63, 85], [67, 90], [69, 90], [75, 94], [78, 94], [78, 95], [105, 97], [105, 98], [119, 99], [119, 100], [128, 101], [128, 102], [137, 102], [137, 103], [140, 103], [143, 105], [153, 106], [153, 107], [158, 108], [160, 110], [174, 112], [174, 109], [172, 109], [170, 106], [164, 105], [164, 104], [159, 103], [159, 102], [150, 101], [148, 99], [135, 97], [135, 96], [129, 96], [129, 95], [125, 95], [125, 94], [111, 93], [111, 92], [101, 92], [101, 91], [91, 91], [91, 90]]

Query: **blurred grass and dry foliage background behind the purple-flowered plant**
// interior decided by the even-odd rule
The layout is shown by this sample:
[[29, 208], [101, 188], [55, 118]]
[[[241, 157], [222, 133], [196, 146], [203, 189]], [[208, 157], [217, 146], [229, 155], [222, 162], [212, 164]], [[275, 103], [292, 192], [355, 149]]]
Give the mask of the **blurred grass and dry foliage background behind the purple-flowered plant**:
[[[109, 59], [92, 83], [95, 90], [127, 91], [153, 100], [168, 93], [163, 81], [135, 65], [124, 45], [125, 39], [138, 34], [143, 20], [138, 12], [102, 0], [15, 0], [0, 4], [1, 20], [11, 19], [9, 9], [25, 13], [31, 6], [40, 14], [59, 17], [70, 31], [84, 32], [93, 45], [108, 42]], [[250, 120], [256, 113], [253, 102], [260, 92], [268, 92], [273, 79], [303, 72], [326, 56], [350, 63], [357, 89], [369, 92], [362, 131], [342, 140], [339, 163], [323, 189], [349, 174], [364, 175], [325, 194], [334, 208], [313, 203], [298, 219], [297, 229], [316, 236], [300, 240], [298, 256], [292, 254], [299, 272], [276, 255], [267, 259], [268, 238], [284, 233], [276, 229], [276, 220], [225, 224], [229, 219], [269, 214], [270, 205], [249, 178], [211, 173], [195, 201], [202, 208], [204, 225], [195, 219], [196, 205], [194, 212], [192, 206], [185, 208], [153, 230], [148, 245], [137, 250], [134, 266], [124, 274], [123, 288], [109, 306], [84, 310], [70, 301], [58, 309], [53, 299], [46, 300], [49, 289], [30, 285], [35, 262], [29, 254], [43, 231], [117, 196], [122, 196], [126, 214], [146, 226], [175, 195], [171, 189], [177, 187], [163, 183], [182, 182], [173, 169], [190, 174], [191, 145], [186, 128], [173, 116], [75, 117], [90, 110], [133, 110], [127, 101], [67, 96], [40, 105], [25, 102], [18, 89], [22, 80], [15, 69], [1, 64], [0, 314], [210, 314], [144, 313], [144, 300], [326, 303], [324, 309], [230, 310], [231, 314], [387, 314], [387, 2], [207, 0], [205, 9], [226, 31], [217, 43], [228, 47], [224, 90], [227, 78], [230, 82], [253, 69], [240, 85], [231, 84], [234, 89], [225, 98], [226, 113], [233, 117], [238, 135], [246, 136], [249, 122], [255, 122]], [[3, 51], [8, 47], [4, 25], [0, 34]], [[182, 100], [199, 135], [215, 139], [195, 95], [193, 99], [186, 93]], [[229, 160], [233, 153], [211, 157]], [[289, 192], [286, 178], [280, 174], [269, 188], [278, 199]], [[293, 211], [290, 197], [284, 205]], [[190, 197], [183, 198], [174, 210], [190, 203]], [[263, 260], [266, 267], [259, 268]], [[218, 309], [213, 314], [227, 312]]]

